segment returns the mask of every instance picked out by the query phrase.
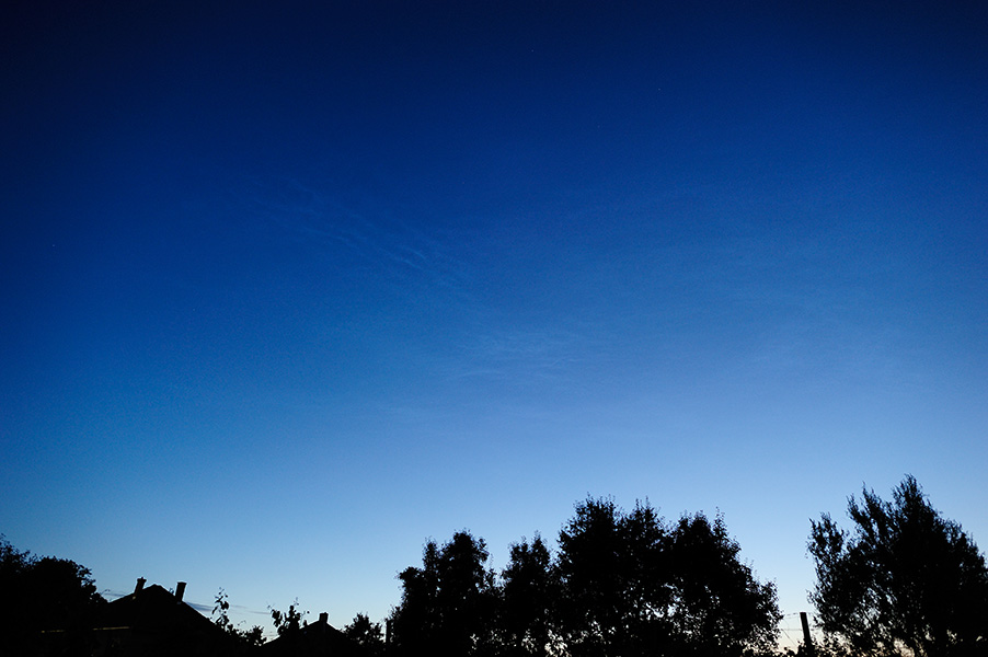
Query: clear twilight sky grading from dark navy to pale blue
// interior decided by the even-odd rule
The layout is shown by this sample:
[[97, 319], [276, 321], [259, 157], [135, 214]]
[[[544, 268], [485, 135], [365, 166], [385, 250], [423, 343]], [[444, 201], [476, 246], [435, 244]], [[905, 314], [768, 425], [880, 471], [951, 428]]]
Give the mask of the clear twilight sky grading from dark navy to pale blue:
[[269, 630], [588, 496], [786, 614], [862, 486], [988, 542], [985, 3], [0, 11], [15, 548]]

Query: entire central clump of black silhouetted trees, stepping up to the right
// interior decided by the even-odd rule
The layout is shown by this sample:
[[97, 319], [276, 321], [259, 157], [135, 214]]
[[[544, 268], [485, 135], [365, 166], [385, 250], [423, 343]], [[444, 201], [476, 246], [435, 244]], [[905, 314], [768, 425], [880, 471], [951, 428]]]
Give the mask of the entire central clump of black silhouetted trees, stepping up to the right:
[[668, 526], [647, 504], [577, 505], [555, 560], [540, 537], [512, 545], [499, 583], [482, 540], [429, 541], [399, 576], [397, 655], [573, 657], [770, 652], [780, 618], [771, 584], [738, 558], [723, 520]]

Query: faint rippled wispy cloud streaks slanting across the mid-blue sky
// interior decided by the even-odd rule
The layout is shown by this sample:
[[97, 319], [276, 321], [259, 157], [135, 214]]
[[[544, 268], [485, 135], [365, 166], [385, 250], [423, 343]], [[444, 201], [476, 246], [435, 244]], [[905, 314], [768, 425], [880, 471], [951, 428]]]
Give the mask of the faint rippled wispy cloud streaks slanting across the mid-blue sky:
[[335, 275], [359, 285], [389, 286], [395, 298], [410, 303], [444, 308], [436, 321], [447, 348], [435, 343], [423, 348], [448, 381], [525, 385], [563, 380], [574, 366], [593, 358], [588, 333], [573, 322], [530, 319], [519, 327], [517, 316], [490, 298], [487, 288], [494, 284], [484, 267], [494, 266], [502, 254], [492, 255], [492, 249], [510, 252], [498, 242], [504, 235], [432, 228], [370, 201], [357, 210], [292, 178], [245, 181], [239, 197], [280, 235], [305, 243], [309, 252], [314, 249], [317, 258], [325, 256]]

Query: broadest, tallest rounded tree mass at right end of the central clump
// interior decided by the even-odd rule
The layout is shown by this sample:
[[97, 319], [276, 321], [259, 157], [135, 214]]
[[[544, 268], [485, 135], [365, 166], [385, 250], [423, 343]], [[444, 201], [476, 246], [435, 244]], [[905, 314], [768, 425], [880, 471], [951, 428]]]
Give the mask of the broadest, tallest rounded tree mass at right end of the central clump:
[[667, 526], [647, 503], [588, 499], [560, 532], [558, 623], [571, 655], [768, 650], [781, 614], [717, 517]]

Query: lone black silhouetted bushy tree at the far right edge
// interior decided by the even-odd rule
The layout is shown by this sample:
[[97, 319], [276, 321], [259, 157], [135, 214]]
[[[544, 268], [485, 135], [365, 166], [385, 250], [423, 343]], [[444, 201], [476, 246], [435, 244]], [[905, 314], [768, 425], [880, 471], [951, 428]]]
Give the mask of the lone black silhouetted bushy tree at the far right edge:
[[812, 523], [824, 632], [865, 656], [988, 654], [988, 569], [977, 545], [907, 476], [891, 502], [848, 500], [854, 529]]

